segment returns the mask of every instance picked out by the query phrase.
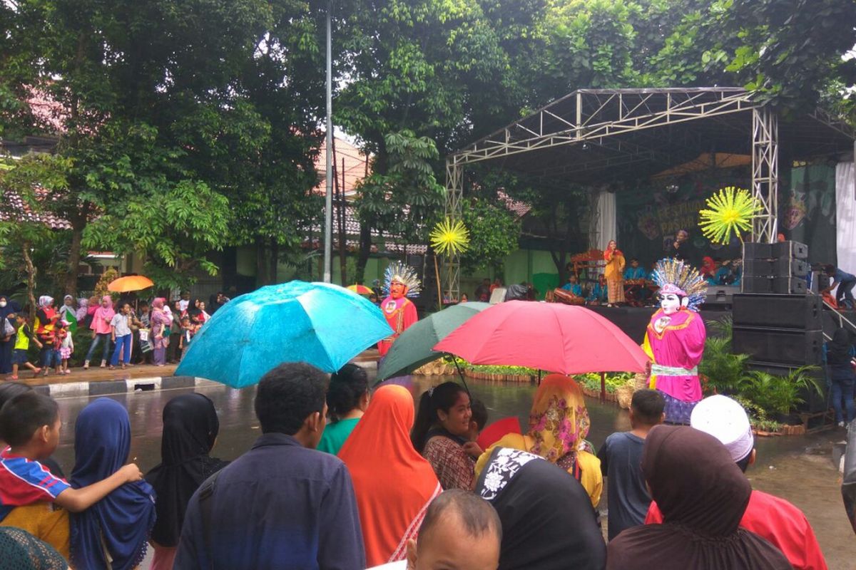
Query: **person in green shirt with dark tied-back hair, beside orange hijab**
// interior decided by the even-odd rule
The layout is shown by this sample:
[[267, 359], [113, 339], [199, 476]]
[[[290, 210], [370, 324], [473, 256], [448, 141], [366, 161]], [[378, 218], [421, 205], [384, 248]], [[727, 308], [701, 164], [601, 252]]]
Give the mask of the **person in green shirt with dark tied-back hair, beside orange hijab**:
[[346, 364], [330, 376], [327, 408], [330, 423], [324, 428], [318, 450], [338, 455], [345, 440], [369, 407], [369, 379], [356, 364]]

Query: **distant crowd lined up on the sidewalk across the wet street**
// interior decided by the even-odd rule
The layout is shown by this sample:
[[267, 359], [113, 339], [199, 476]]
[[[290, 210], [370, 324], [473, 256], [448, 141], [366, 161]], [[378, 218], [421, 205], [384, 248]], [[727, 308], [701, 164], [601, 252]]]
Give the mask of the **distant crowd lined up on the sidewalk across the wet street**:
[[[30, 311], [0, 296], [0, 374], [17, 380], [24, 368], [33, 375], [71, 373], [74, 332], [81, 328], [92, 338], [84, 370], [99, 358], [100, 367], [111, 369], [177, 363], [211, 314], [228, 302], [220, 291], [207, 304], [183, 291], [169, 303], [164, 297], [148, 303], [131, 296], [115, 302], [110, 295], [76, 300], [66, 295], [57, 307], [53, 297], [43, 295]], [[30, 344], [39, 348], [35, 362], [30, 361]]]

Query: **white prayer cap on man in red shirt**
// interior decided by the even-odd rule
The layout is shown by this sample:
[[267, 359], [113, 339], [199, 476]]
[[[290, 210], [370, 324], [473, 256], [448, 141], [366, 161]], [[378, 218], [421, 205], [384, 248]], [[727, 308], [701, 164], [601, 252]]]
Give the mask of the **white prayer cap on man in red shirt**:
[[752, 453], [755, 445], [746, 410], [727, 396], [717, 394], [697, 403], [690, 426], [721, 441], [735, 463]]

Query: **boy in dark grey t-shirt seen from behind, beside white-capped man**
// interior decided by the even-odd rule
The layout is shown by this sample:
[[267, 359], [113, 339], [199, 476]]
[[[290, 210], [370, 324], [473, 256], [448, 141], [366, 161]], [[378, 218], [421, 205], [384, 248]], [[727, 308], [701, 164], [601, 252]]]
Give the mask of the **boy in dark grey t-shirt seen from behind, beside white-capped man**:
[[613, 433], [597, 452], [604, 477], [609, 477], [609, 540], [632, 526], [645, 523], [651, 496], [642, 473], [642, 448], [651, 427], [663, 423], [665, 401], [656, 390], [633, 393], [629, 432]]

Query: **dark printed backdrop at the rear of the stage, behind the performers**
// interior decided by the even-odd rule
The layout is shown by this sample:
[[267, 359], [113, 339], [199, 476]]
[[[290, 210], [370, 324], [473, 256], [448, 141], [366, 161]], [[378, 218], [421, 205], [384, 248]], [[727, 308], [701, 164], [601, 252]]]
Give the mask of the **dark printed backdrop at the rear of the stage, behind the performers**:
[[[739, 169], [745, 171], [745, 169]], [[645, 267], [662, 259], [666, 246], [685, 229], [693, 243], [693, 261], [703, 256], [739, 257], [740, 240], [730, 244], [710, 244], [698, 229], [698, 211], [714, 192], [725, 186], [747, 188], [748, 181], [734, 171], [695, 173], [680, 179], [658, 179], [617, 193], [618, 246], [629, 261], [636, 257]]]

